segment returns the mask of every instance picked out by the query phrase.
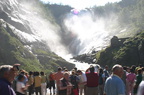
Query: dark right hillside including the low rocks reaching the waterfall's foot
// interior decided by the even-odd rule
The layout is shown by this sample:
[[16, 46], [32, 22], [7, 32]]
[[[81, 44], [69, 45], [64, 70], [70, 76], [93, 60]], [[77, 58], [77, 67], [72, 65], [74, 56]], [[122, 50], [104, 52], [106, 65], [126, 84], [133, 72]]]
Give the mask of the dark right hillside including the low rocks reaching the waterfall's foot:
[[[95, 57], [93, 57], [94, 54]], [[144, 31], [126, 39], [112, 39], [109, 47], [94, 54], [83, 54], [73, 59], [87, 63], [93, 63], [93, 59], [96, 59], [95, 63], [110, 67], [114, 64], [123, 66], [144, 65]]]

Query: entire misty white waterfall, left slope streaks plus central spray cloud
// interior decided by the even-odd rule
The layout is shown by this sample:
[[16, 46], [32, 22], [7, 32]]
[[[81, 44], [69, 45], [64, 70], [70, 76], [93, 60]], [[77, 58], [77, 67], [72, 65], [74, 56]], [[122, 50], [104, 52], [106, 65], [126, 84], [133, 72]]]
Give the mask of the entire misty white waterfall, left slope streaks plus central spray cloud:
[[57, 24], [39, 14], [38, 9], [41, 10], [29, 0], [1, 0], [0, 18], [11, 25], [23, 42], [42, 42], [64, 59], [88, 53], [93, 48], [100, 50], [116, 35], [110, 28], [117, 23], [114, 14], [109, 18], [98, 18], [87, 10], [78, 14], [70, 12], [63, 21], [63, 32]]

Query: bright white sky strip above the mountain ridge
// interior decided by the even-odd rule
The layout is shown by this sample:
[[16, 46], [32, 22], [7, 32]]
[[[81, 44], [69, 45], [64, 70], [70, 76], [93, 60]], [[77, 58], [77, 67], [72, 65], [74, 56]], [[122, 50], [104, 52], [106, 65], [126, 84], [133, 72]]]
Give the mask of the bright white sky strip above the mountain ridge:
[[44, 2], [70, 5], [76, 9], [92, 7], [94, 5], [103, 6], [108, 2], [119, 2], [121, 0], [41, 0]]

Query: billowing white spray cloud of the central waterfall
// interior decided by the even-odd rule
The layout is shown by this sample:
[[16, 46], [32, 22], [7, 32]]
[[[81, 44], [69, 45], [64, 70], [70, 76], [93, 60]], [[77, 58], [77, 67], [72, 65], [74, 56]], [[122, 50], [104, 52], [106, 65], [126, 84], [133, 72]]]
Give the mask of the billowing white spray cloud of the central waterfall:
[[[67, 32], [70, 37], [75, 37], [68, 45], [74, 55], [88, 53], [92, 48], [101, 50], [109, 44], [112, 36], [116, 35], [110, 28], [116, 24], [117, 17], [97, 18], [91, 13], [85, 12], [82, 15], [70, 14], [65, 20]], [[94, 20], [97, 18], [96, 20]]]

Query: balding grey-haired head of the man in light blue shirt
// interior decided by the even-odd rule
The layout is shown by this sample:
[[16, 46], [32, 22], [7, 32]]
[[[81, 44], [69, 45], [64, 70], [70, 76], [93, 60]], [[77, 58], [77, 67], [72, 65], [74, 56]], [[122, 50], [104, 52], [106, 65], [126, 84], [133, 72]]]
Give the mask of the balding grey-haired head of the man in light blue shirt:
[[112, 72], [119, 77], [122, 77], [124, 74], [123, 67], [119, 64], [116, 64], [112, 67]]

